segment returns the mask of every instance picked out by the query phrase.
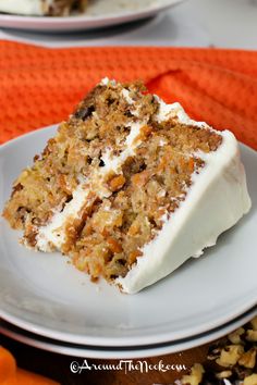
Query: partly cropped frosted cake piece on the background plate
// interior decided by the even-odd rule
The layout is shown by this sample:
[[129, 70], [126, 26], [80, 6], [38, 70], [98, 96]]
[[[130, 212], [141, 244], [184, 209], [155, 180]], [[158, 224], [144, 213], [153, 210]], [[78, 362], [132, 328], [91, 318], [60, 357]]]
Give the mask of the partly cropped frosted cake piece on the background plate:
[[68, 16], [84, 12], [87, 0], [0, 0], [0, 12], [35, 16]]

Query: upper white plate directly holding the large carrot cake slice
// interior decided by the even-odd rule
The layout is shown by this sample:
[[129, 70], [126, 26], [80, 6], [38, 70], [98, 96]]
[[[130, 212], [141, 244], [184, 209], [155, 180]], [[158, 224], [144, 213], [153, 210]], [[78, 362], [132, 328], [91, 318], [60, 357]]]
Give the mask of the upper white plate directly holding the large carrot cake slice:
[[[54, 131], [39, 129], [0, 148], [0, 210], [13, 179]], [[243, 314], [257, 302], [257, 153], [241, 148], [250, 213], [201, 258], [137, 295], [90, 283], [59, 253], [25, 249], [1, 219], [0, 316], [53, 339], [118, 347], [175, 341]]]

